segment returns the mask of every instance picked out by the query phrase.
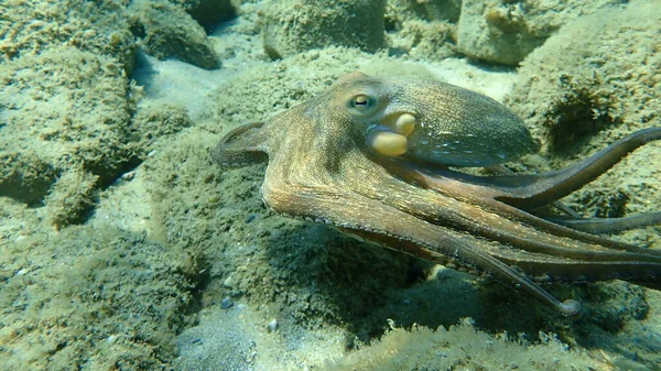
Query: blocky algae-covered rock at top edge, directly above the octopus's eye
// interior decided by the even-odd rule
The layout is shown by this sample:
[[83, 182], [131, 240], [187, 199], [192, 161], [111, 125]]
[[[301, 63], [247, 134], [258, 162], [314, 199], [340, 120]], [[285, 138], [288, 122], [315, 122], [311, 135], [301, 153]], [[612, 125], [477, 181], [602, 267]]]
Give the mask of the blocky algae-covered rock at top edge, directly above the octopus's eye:
[[325, 46], [383, 47], [384, 0], [274, 1], [261, 11], [263, 47], [272, 59]]

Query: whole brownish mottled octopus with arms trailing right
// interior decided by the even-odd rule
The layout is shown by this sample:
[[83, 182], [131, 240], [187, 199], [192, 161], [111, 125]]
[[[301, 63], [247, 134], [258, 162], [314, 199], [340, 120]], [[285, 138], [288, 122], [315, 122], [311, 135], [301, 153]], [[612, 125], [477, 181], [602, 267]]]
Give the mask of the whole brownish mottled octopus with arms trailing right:
[[559, 201], [659, 139], [661, 128], [648, 128], [566, 168], [516, 174], [502, 164], [539, 145], [503, 105], [440, 81], [357, 72], [230, 131], [212, 157], [225, 167], [268, 162], [260, 190], [279, 214], [492, 277], [572, 316], [581, 304], [542, 284], [661, 283], [660, 250], [598, 236], [659, 223], [661, 212], [583, 219]]

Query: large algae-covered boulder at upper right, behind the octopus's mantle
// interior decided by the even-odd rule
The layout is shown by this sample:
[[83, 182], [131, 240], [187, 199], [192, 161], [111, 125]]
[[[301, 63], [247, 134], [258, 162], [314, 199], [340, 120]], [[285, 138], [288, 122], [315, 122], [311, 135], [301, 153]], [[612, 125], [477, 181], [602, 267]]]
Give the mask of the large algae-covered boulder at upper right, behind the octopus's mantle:
[[523, 61], [508, 105], [554, 152], [613, 124], [651, 126], [661, 117], [659, 33], [653, 3], [576, 19]]

